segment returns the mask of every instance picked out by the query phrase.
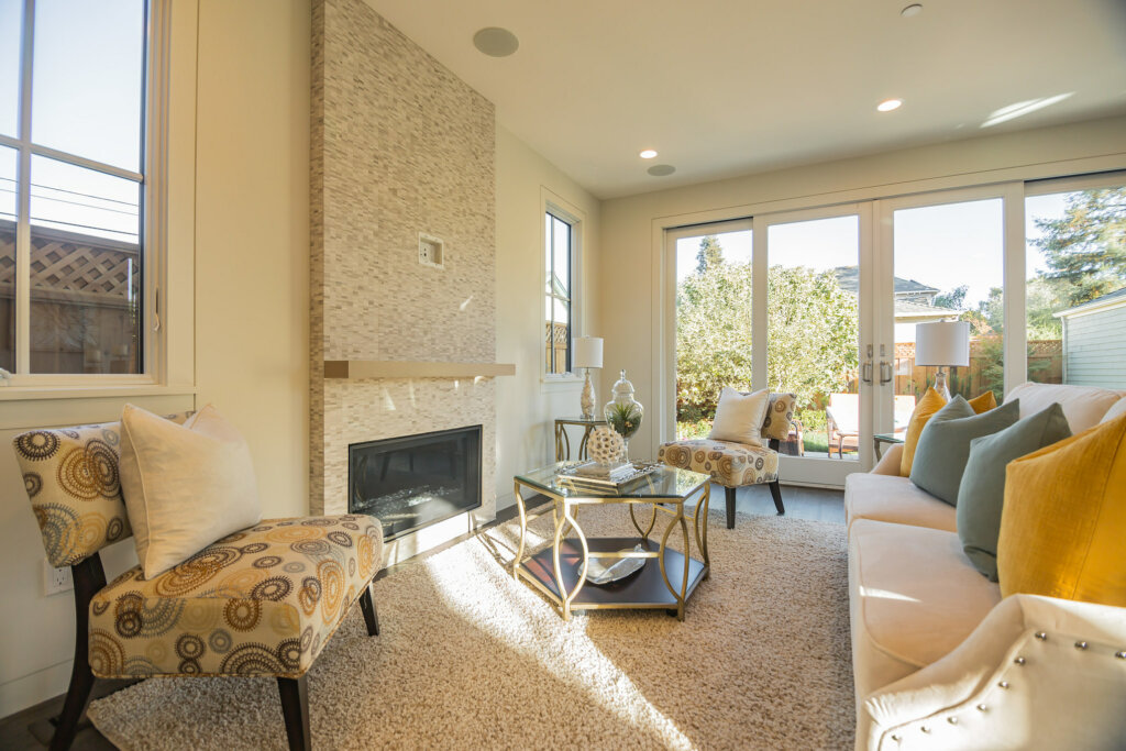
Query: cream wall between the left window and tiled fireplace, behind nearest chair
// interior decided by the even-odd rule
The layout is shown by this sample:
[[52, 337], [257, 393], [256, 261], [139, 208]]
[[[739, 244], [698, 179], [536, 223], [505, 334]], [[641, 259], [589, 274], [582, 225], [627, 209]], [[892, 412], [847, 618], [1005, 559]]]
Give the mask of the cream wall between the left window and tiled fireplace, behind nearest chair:
[[[9, 614], [0, 619], [0, 717], [64, 692], [74, 649], [73, 598], [42, 593], [39, 533], [3, 448], [20, 429], [113, 420], [125, 401], [161, 412], [214, 402], [251, 446], [265, 513], [307, 508], [310, 3], [199, 0], [198, 18], [195, 2], [172, 5], [167, 322], [187, 332], [189, 350], [173, 381], [190, 381], [194, 350], [197, 395], [189, 384], [170, 395], [0, 401]], [[136, 561], [132, 540], [102, 557], [110, 576]]]

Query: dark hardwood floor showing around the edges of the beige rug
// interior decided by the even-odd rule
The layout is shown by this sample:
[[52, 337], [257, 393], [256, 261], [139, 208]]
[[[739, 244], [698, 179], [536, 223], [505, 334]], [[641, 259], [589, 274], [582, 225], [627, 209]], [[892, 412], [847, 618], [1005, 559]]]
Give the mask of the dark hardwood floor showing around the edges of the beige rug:
[[[814, 521], [831, 521], [844, 524], [844, 494], [839, 490], [821, 490], [816, 488], [798, 488], [794, 485], [783, 485], [783, 502], [786, 504], [786, 516], [793, 519], [811, 519]], [[547, 499], [543, 495], [527, 500], [529, 508], [545, 503]], [[741, 488], [735, 497], [735, 510], [740, 513], [774, 516], [776, 513], [774, 501], [770, 498], [770, 490], [766, 485], [753, 485]], [[723, 525], [724, 515], [724, 491], [721, 485], [712, 485], [712, 510], [708, 515], [709, 525]], [[516, 517], [516, 507], [502, 509], [497, 513], [497, 521], [483, 527], [503, 524]], [[477, 530], [479, 533], [481, 530]], [[473, 533], [477, 534], [477, 533]], [[388, 566], [381, 571], [376, 580], [388, 576], [405, 566], [423, 561], [448, 547], [468, 539], [472, 534], [462, 535], [456, 539], [420, 555]], [[391, 617], [391, 614], [387, 614]], [[105, 696], [115, 690], [129, 685], [132, 681], [107, 681], [99, 680], [93, 687], [93, 697]], [[45, 749], [51, 742], [54, 725], [51, 718], [59, 716], [62, 712], [63, 697], [57, 696], [34, 707], [28, 707], [10, 717], [0, 721], [0, 749], [10, 751], [38, 751]], [[83, 717], [79, 725], [78, 735], [74, 739], [75, 751], [105, 751], [113, 749], [114, 744], [97, 731], [88, 719]]]

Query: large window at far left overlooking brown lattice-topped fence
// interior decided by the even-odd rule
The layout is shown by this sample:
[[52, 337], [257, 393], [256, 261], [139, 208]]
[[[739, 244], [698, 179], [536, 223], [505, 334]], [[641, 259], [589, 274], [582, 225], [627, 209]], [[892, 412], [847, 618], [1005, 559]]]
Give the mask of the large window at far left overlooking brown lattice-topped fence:
[[153, 36], [146, 0], [0, 0], [0, 367], [17, 383], [151, 369]]

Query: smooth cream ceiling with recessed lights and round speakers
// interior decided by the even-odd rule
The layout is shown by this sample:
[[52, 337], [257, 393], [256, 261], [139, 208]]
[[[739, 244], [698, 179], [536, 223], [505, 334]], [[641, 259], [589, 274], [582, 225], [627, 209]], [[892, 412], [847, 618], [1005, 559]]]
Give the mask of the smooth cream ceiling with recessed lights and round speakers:
[[911, 1], [366, 0], [599, 198], [1126, 113], [1126, 0]]

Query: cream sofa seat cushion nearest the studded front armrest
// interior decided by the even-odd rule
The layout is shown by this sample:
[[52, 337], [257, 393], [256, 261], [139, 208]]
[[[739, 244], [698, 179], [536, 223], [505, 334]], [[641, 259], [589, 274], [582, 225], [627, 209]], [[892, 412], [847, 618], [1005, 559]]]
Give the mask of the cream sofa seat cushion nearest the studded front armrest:
[[1001, 601], [955, 533], [857, 519], [849, 528], [849, 607], [857, 696], [941, 659]]

